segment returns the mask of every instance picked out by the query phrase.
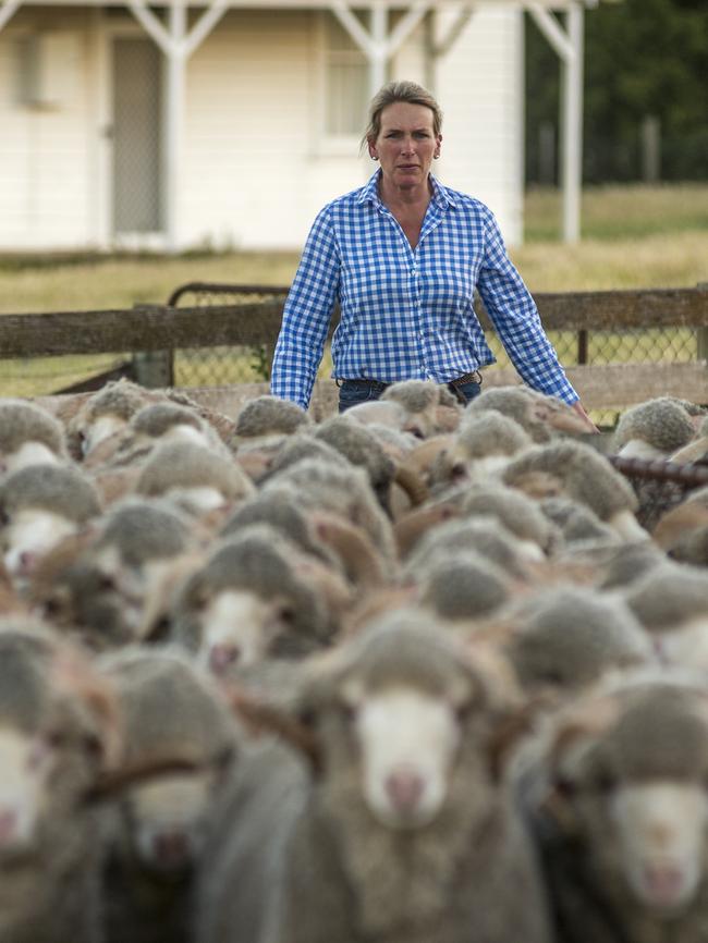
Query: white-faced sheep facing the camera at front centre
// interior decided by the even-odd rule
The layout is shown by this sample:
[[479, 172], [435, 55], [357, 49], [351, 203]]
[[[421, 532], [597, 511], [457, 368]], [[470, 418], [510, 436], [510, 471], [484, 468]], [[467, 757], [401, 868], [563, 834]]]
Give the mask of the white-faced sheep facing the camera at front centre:
[[369, 625], [313, 671], [298, 712], [313, 785], [285, 811], [254, 797], [243, 828], [232, 819], [225, 866], [205, 879], [210, 929], [198, 943], [550, 939], [533, 850], [492, 759], [504, 700], [447, 634], [408, 611]]

